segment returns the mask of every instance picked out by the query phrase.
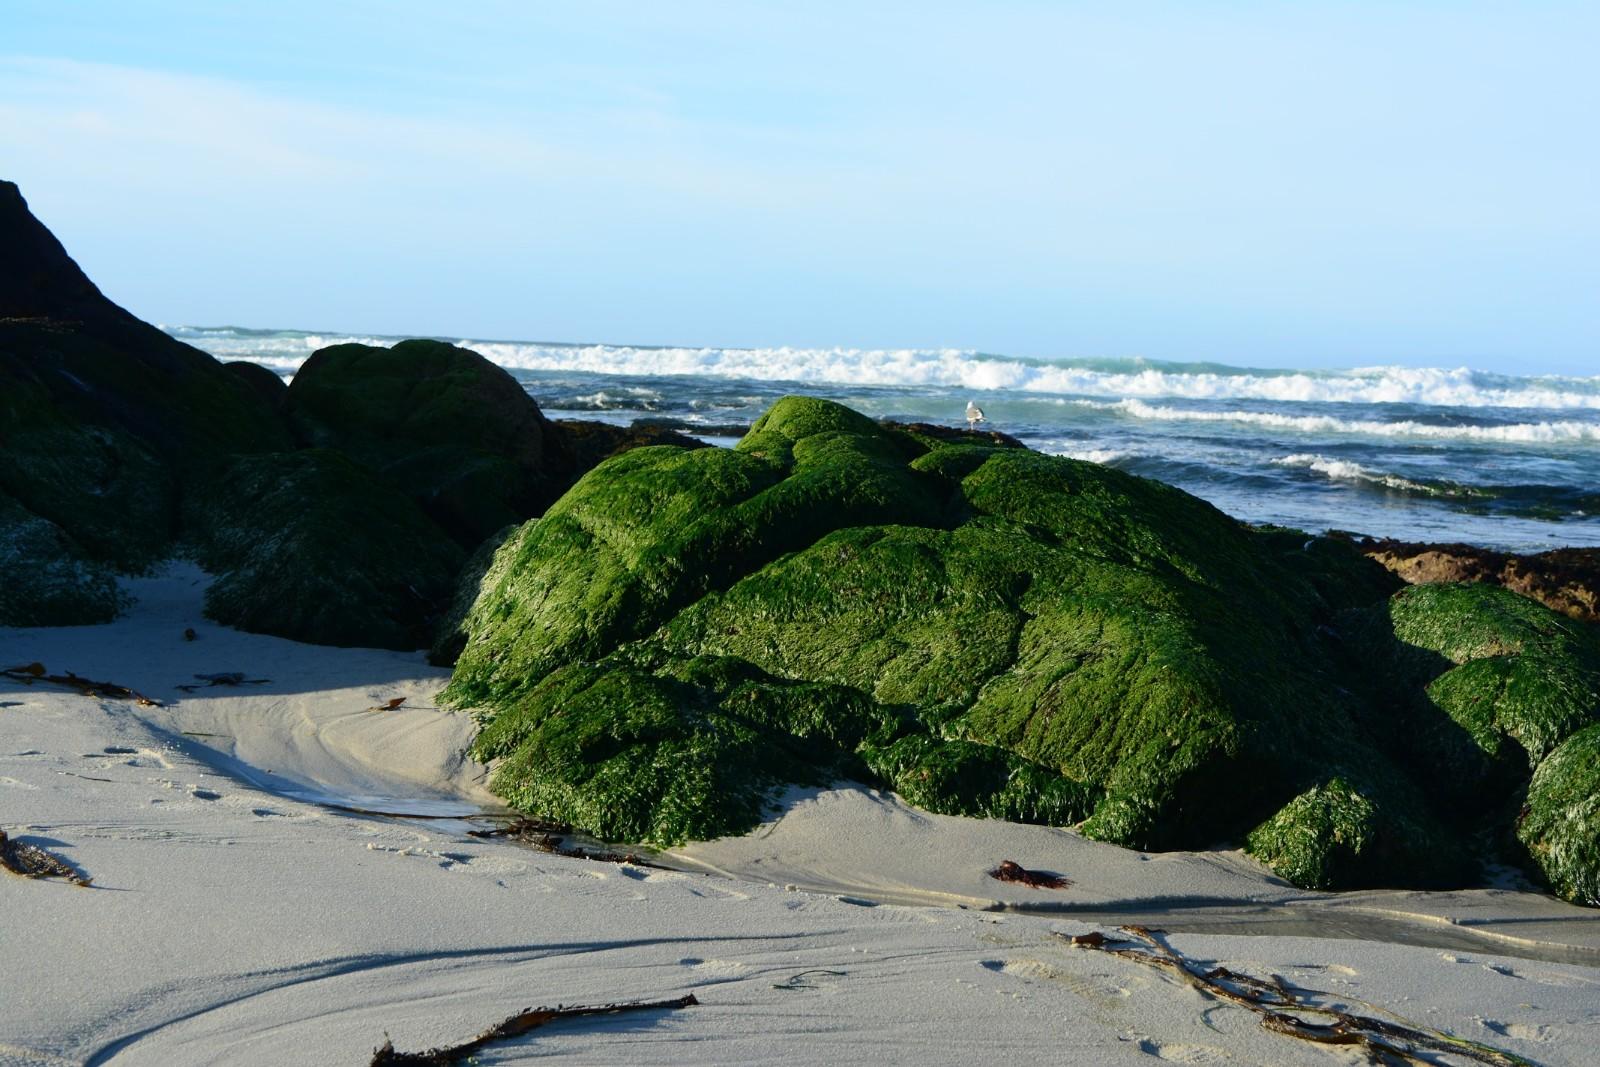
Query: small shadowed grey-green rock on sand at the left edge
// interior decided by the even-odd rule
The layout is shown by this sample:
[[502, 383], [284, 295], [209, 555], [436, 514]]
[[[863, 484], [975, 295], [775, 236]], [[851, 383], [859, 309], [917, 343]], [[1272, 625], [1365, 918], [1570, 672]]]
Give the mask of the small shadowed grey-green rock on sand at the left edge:
[[107, 565], [0, 493], [0, 625], [110, 622], [122, 606]]

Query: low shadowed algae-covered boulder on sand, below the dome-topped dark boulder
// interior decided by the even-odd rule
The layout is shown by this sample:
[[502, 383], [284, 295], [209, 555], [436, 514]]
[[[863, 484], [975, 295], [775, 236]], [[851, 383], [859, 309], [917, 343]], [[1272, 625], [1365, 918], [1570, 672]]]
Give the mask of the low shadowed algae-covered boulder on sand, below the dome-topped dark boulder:
[[341, 453], [245, 456], [187, 502], [206, 614], [317, 645], [422, 648], [461, 549], [398, 490]]

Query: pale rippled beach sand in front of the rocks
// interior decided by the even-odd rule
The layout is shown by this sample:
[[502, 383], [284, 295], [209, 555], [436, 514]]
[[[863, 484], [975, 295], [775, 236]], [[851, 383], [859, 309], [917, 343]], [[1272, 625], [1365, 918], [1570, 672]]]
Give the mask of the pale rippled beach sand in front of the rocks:
[[[0, 630], [0, 665], [173, 702], [0, 681], [0, 829], [94, 878], [0, 877], [0, 1064], [363, 1064], [384, 1033], [422, 1048], [530, 1005], [685, 992], [702, 1005], [557, 1024], [478, 1062], [1360, 1062], [1054, 936], [1130, 920], [1253, 931], [1171, 942], [1539, 1064], [1600, 1048], [1600, 915], [1530, 893], [1307, 894], [1237, 853], [1141, 856], [858, 789], [675, 854], [738, 880], [342, 813], [317, 801], [494, 805], [458, 755], [470, 720], [430, 710], [443, 672], [206, 624], [192, 568], [131, 585], [115, 624]], [[221, 670], [272, 681], [173, 688]], [[413, 707], [365, 710], [394, 696]], [[997, 883], [1000, 859], [1075, 885]], [[1306, 933], [1328, 936], [1288, 936]], [[806, 969], [840, 974], [776, 989]]]

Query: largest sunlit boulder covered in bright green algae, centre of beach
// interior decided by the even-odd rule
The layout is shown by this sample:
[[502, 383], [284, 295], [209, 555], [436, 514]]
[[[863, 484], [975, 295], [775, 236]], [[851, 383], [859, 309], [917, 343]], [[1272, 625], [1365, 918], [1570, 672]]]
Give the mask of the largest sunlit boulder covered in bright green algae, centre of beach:
[[1306, 800], [1338, 781], [1368, 830], [1320, 864], [1262, 830], [1269, 862], [1435, 885], [1461, 838], [1339, 677], [1338, 619], [1397, 585], [1155, 482], [790, 397], [734, 450], [608, 459], [512, 534], [443, 697], [482, 710], [502, 797], [616, 838], [742, 832], [843, 774], [1208, 846], [1342, 817]]

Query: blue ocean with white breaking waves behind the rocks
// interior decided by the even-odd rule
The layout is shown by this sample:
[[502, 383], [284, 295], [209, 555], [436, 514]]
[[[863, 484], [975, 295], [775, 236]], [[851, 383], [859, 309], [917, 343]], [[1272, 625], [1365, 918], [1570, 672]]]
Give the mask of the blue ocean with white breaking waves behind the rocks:
[[[402, 339], [163, 330], [285, 378], [330, 344]], [[1032, 448], [1160, 478], [1246, 522], [1515, 552], [1600, 545], [1600, 376], [440, 339], [504, 366], [557, 419], [658, 419], [731, 443], [792, 392], [949, 426], [971, 400]]]

